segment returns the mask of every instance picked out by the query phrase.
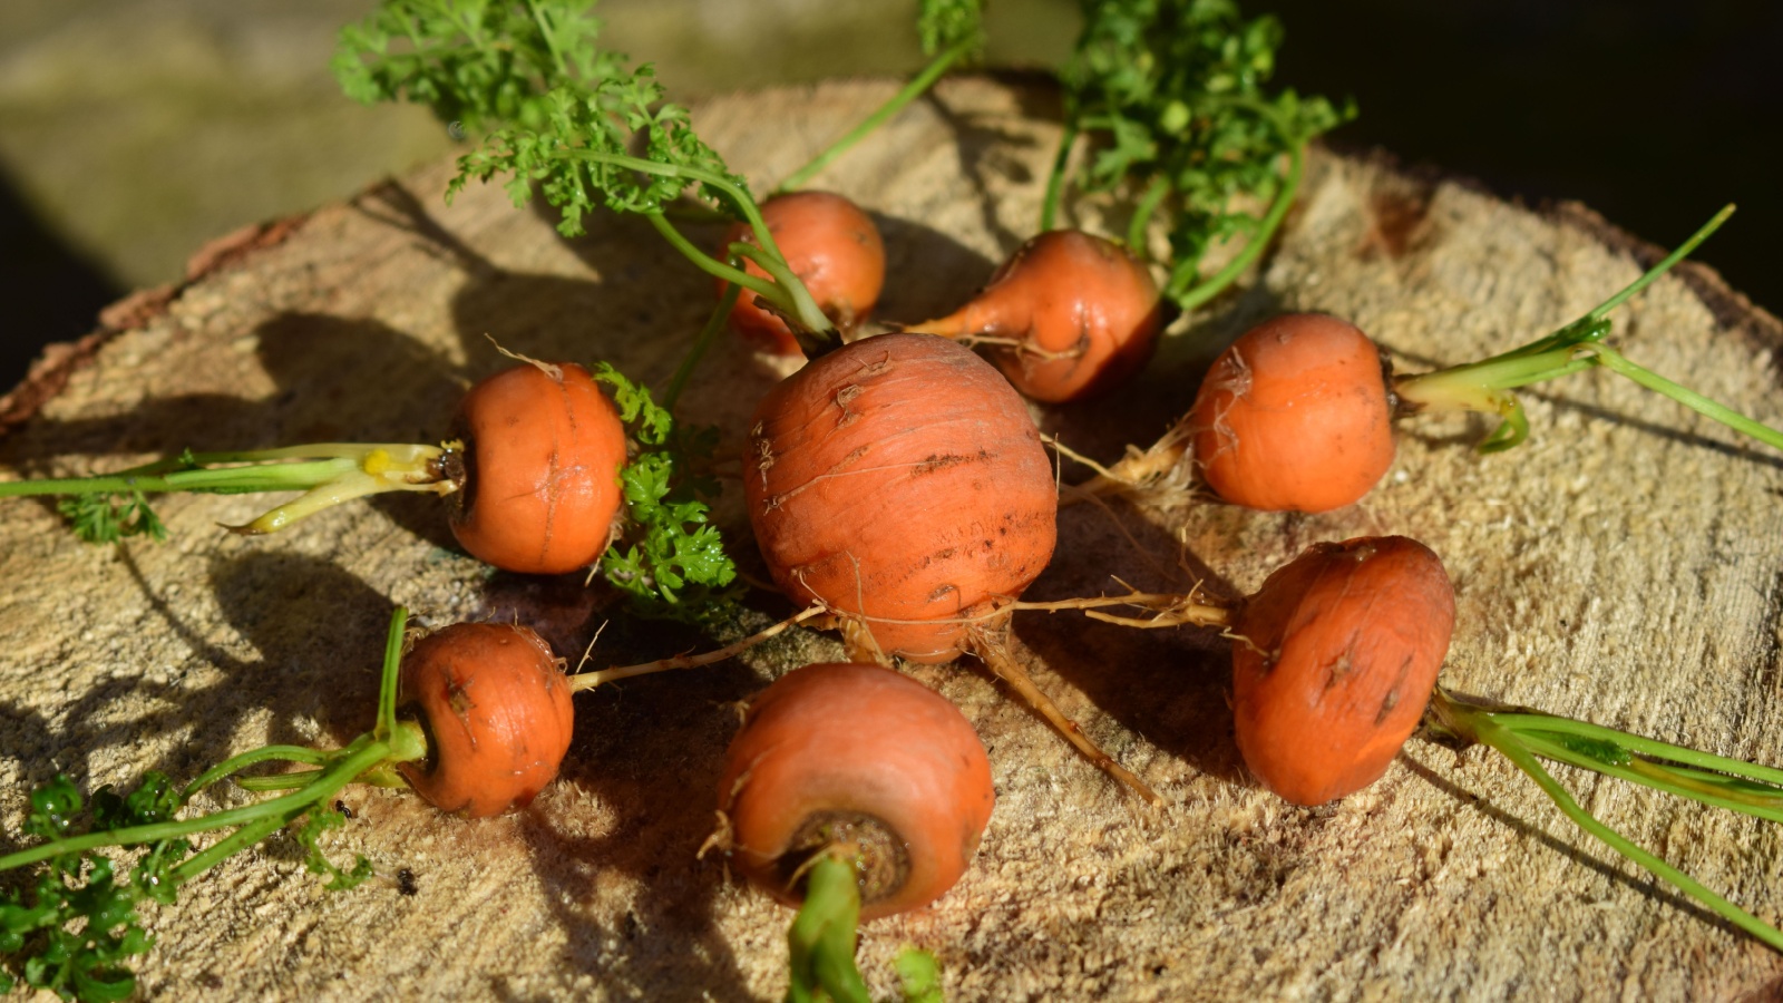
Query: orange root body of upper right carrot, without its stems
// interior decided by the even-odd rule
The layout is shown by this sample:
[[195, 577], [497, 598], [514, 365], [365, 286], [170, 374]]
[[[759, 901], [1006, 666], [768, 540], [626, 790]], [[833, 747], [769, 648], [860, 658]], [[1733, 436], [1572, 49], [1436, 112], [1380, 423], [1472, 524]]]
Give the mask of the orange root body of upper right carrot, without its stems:
[[1341, 509], [1393, 466], [1380, 350], [1327, 314], [1286, 314], [1245, 332], [1214, 361], [1184, 421], [1207, 485], [1250, 509]]

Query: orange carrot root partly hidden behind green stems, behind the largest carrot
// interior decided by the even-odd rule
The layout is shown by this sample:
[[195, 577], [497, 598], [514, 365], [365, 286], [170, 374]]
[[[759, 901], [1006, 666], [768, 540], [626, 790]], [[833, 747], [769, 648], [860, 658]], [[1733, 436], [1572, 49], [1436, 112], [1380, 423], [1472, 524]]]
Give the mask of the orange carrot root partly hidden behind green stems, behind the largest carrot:
[[[884, 289], [886, 248], [879, 227], [859, 205], [827, 191], [793, 191], [763, 202], [761, 221], [774, 234], [792, 273], [843, 336], [867, 323]], [[738, 221], [724, 234], [726, 246], [735, 241], [756, 243], [747, 223]], [[745, 261], [744, 269], [768, 277], [752, 261]], [[719, 282], [720, 296], [724, 289], [726, 282]], [[799, 355], [786, 321], [758, 307], [749, 291], [731, 307], [731, 327], [763, 352]]]

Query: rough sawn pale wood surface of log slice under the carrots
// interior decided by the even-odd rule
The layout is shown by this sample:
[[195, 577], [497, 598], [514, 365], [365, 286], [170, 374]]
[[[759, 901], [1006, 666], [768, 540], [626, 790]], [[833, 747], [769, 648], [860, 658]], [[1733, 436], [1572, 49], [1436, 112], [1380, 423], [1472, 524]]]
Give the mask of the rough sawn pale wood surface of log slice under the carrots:
[[[886, 93], [735, 96], [697, 121], [767, 180]], [[950, 82], [822, 178], [884, 227], [883, 316], [950, 309], [1029, 232], [1048, 111], [1043, 93]], [[485, 334], [530, 355], [669, 373], [708, 311], [704, 277], [637, 223], [603, 218], [565, 243], [496, 189], [446, 209], [446, 177], [440, 164], [325, 207], [146, 311], [0, 439], [0, 477], [182, 446], [431, 441], [464, 382], [499, 366]], [[1268, 312], [1348, 316], [1417, 369], [1544, 334], [1653, 259], [1578, 209], [1530, 212], [1319, 155], [1246, 291], [1200, 314], [1136, 391], [1045, 425], [1113, 459], [1186, 407], [1209, 343]], [[1615, 343], [1783, 423], [1778, 323], [1705, 269], [1623, 307]], [[690, 407], [729, 421], [736, 441], [772, 378], [726, 350]], [[1605, 373], [1526, 400], [1526, 446], [1482, 459], [1467, 446], [1483, 423], [1410, 421], [1387, 480], [1327, 516], [1068, 509], [1056, 566], [1031, 594], [1104, 591], [1109, 575], [1241, 593], [1318, 539], [1416, 535], [1458, 587], [1450, 687], [1783, 762], [1783, 462]], [[392, 603], [435, 623], [522, 616], [565, 651], [612, 612], [574, 578], [487, 573], [451, 546], [428, 498], [335, 510], [273, 539], [216, 528], [255, 510], [241, 496], [169, 500], [173, 543], [93, 548], [50, 505], [0, 507], [0, 846], [18, 839], [25, 789], [55, 771], [96, 787], [143, 767], [189, 776], [267, 741], [344, 742], [371, 723]], [[779, 612], [756, 605], [761, 621]], [[1414, 741], [1371, 789], [1293, 808], [1237, 760], [1221, 641], [1070, 614], [1018, 619], [1016, 635], [1039, 684], [1168, 807], [1118, 791], [982, 669], [909, 669], [979, 728], [1000, 800], [949, 896], [865, 930], [879, 994], [904, 942], [938, 953], [956, 999], [1769, 998], [1783, 985], [1783, 958], [1576, 833], [1485, 750]], [[596, 659], [699, 642], [615, 619]], [[788, 914], [695, 850], [733, 703], [836, 651], [806, 634], [747, 664], [579, 696], [562, 782], [514, 817], [471, 823], [355, 789], [357, 817], [332, 846], [385, 876], [410, 869], [415, 896], [394, 880], [325, 894], [275, 839], [152, 910], [143, 992], [772, 998]], [[1610, 825], [1783, 917], [1776, 826], [1562, 778]]]

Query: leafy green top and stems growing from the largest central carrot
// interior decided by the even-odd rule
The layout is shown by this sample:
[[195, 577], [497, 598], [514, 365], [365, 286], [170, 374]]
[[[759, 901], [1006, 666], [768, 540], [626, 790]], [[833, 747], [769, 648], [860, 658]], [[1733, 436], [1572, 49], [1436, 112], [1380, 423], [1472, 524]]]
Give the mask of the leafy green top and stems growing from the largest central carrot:
[[[562, 212], [558, 230], [567, 237], [583, 234], [583, 220], [597, 207], [644, 214], [697, 268], [768, 298], [822, 343], [834, 325], [772, 250], [749, 186], [694, 136], [688, 111], [665, 100], [651, 66], [626, 70], [624, 55], [596, 48], [597, 21], [583, 7], [572, 0], [383, 0], [373, 18], [342, 32], [335, 71], [360, 100], [417, 100], [440, 118], [490, 130], [460, 157], [448, 202], [471, 180], [503, 177], [515, 205], [544, 195]], [[963, 30], [949, 25], [952, 18], [936, 20], [936, 37]], [[751, 223], [768, 250], [745, 257], [756, 257], [772, 280], [747, 275], [676, 230], [663, 207], [690, 193]]]

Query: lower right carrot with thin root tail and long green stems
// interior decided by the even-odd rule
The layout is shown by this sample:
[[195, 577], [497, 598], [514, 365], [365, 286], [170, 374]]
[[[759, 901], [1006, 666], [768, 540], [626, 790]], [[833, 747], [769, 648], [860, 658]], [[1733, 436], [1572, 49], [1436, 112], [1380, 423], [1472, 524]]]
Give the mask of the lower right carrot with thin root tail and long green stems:
[[[1236, 609], [1198, 594], [1143, 593], [1020, 605], [1084, 609], [1091, 618], [1130, 626], [1227, 628], [1239, 751], [1250, 771], [1287, 801], [1321, 805], [1373, 783], [1414, 730], [1457, 750], [1485, 744], [1510, 758], [1582, 830], [1783, 951], [1783, 932], [1594, 817], [1539, 758], [1774, 823], [1783, 823], [1783, 769], [1444, 692], [1435, 676], [1455, 623], [1455, 598], [1442, 562], [1416, 541], [1316, 544]], [[1102, 605], [1132, 605], [1154, 616], [1091, 609]]]

